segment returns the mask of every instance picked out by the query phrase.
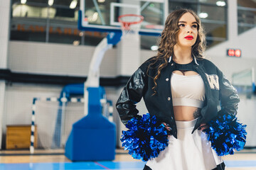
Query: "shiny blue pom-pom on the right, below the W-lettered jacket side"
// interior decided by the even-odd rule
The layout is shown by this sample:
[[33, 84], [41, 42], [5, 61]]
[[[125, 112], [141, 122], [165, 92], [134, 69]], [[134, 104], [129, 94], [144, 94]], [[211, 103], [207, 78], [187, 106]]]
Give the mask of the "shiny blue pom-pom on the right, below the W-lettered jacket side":
[[245, 146], [246, 125], [238, 123], [238, 118], [235, 115], [220, 111], [208, 125], [209, 128], [205, 132], [208, 134], [211, 147], [218, 156], [234, 154], [235, 150], [240, 151]]

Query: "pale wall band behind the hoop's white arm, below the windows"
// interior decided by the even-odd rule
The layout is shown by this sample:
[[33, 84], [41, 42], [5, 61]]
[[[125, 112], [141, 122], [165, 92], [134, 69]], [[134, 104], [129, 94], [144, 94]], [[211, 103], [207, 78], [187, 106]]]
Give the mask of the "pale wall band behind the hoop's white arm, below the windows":
[[[85, 77], [95, 47], [43, 42], [11, 41], [8, 67], [13, 72]], [[102, 61], [101, 77], [115, 77], [116, 50], [108, 50]]]

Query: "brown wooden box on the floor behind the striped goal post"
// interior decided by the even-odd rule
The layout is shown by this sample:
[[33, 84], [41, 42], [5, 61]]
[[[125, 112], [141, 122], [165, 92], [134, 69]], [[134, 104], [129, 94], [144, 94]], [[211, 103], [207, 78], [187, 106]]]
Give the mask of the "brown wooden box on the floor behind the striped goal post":
[[[34, 132], [34, 147], [37, 147], [37, 131]], [[31, 125], [6, 125], [6, 149], [29, 149]]]

